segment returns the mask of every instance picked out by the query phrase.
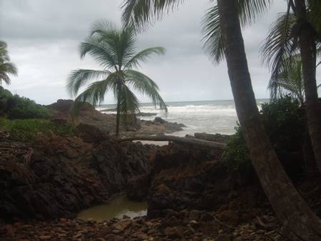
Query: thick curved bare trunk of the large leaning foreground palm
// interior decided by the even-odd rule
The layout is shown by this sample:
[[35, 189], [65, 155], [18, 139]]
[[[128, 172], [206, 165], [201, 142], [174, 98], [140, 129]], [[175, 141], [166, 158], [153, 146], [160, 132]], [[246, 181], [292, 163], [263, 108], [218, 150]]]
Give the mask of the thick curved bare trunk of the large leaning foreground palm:
[[320, 219], [287, 177], [260, 121], [236, 1], [218, 0], [218, 9], [235, 108], [253, 166], [285, 234], [291, 240], [321, 240]]

